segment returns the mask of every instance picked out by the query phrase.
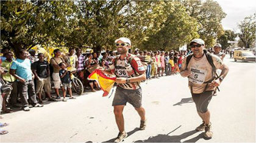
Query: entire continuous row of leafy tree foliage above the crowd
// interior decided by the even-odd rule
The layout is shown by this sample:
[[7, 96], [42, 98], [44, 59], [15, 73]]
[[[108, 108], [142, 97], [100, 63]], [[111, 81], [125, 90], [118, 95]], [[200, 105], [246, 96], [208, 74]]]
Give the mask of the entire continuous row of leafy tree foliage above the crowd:
[[133, 47], [169, 50], [202, 38], [211, 45], [225, 17], [217, 2], [2, 1], [1, 47], [35, 45], [113, 49], [126, 36]]

